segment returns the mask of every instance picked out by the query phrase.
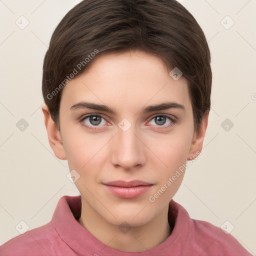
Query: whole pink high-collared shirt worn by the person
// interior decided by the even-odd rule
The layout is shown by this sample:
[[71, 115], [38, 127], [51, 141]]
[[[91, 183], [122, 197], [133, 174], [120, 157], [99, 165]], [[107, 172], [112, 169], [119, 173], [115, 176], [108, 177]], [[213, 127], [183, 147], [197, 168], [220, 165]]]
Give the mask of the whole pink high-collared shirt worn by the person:
[[0, 256], [249, 256], [242, 245], [219, 227], [194, 220], [186, 210], [169, 203], [168, 220], [174, 227], [159, 245], [142, 252], [123, 252], [100, 242], [77, 221], [81, 197], [62, 196], [52, 219], [17, 235], [0, 246]]

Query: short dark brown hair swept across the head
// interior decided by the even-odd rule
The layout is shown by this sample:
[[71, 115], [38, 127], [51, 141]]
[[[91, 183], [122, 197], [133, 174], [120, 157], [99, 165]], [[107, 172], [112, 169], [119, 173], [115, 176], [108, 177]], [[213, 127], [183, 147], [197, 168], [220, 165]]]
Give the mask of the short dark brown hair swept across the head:
[[131, 49], [159, 57], [168, 71], [182, 71], [197, 131], [210, 109], [210, 51], [201, 27], [176, 0], [83, 0], [66, 13], [51, 36], [42, 73], [43, 99], [59, 130], [68, 75], [81, 74], [102, 54]]

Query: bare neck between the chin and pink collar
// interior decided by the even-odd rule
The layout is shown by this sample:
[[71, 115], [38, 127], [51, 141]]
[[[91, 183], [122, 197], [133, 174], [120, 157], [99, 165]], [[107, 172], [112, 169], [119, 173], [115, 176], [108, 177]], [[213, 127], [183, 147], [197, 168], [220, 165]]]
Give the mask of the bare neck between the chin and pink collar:
[[140, 252], [153, 248], [166, 240], [171, 233], [168, 223], [168, 205], [143, 225], [120, 228], [103, 219], [82, 200], [81, 216], [78, 222], [102, 243], [127, 252]]

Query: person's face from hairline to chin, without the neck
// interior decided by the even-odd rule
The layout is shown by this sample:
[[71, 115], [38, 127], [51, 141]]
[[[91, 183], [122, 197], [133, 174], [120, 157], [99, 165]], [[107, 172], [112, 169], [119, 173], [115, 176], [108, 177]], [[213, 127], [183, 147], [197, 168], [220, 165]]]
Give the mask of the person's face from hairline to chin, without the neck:
[[[184, 172], [168, 180], [202, 143], [185, 78], [174, 80], [160, 59], [141, 51], [97, 58], [65, 85], [59, 114], [55, 154], [75, 170], [86, 207], [116, 225], [142, 225], [166, 209]], [[150, 185], [105, 185], [116, 180]]]

